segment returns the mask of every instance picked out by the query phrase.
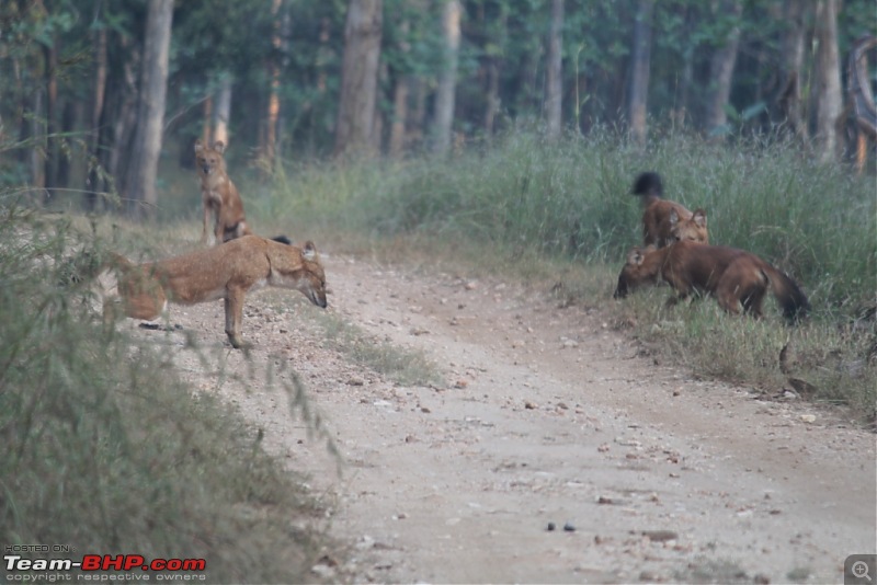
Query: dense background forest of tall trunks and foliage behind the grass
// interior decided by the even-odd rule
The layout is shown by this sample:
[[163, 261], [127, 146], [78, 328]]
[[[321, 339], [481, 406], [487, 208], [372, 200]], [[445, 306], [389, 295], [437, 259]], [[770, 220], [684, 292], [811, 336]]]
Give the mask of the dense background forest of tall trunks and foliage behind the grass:
[[873, 0], [178, 1], [160, 115], [140, 110], [162, 84], [140, 87], [151, 3], [0, 4], [0, 181], [41, 202], [83, 188], [93, 207], [113, 185], [140, 197], [150, 173], [130, 165], [150, 116], [183, 164], [214, 131], [232, 156], [273, 164], [352, 144], [444, 152], [452, 136], [531, 123], [640, 137], [787, 128], [833, 158], [840, 60], [877, 32]]

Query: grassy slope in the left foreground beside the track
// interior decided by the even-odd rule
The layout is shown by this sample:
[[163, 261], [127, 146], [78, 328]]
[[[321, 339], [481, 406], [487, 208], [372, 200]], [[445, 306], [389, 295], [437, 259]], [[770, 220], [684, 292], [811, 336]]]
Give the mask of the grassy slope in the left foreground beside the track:
[[0, 219], [0, 542], [204, 558], [212, 583], [315, 581], [326, 538], [303, 528], [320, 511], [300, 478], [168, 356], [94, 319], [109, 242], [44, 217]]

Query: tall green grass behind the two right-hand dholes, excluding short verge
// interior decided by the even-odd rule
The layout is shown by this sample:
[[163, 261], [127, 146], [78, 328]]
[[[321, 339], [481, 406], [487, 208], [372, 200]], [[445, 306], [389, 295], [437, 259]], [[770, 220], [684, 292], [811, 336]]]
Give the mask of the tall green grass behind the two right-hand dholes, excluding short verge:
[[783, 141], [725, 147], [674, 135], [638, 149], [608, 131], [560, 141], [512, 133], [448, 159], [293, 168], [262, 216], [311, 231], [425, 232], [614, 263], [641, 241], [629, 192], [643, 170], [662, 174], [665, 197], [707, 210], [713, 243], [749, 250], [802, 283], [817, 312], [874, 300], [874, 179]]

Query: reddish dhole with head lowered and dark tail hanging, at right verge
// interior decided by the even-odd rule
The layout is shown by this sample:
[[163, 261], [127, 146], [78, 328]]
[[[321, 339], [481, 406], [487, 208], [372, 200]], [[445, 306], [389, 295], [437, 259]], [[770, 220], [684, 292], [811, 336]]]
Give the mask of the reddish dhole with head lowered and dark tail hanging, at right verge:
[[672, 286], [677, 298], [692, 292], [706, 292], [718, 300], [729, 313], [762, 316], [764, 296], [770, 289], [783, 314], [789, 321], [807, 314], [810, 305], [798, 285], [755, 254], [724, 245], [676, 242], [672, 245], [645, 250], [635, 248], [618, 276], [614, 297], [624, 298], [642, 285], [660, 280]]

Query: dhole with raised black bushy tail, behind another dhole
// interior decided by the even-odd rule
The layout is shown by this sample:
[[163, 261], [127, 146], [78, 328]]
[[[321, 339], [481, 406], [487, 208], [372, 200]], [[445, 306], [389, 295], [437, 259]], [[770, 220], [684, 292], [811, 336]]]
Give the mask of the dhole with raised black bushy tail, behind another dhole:
[[634, 183], [634, 195], [642, 197], [642, 236], [645, 245], [663, 248], [679, 240], [709, 243], [706, 211], [688, 211], [677, 203], [662, 199], [661, 175], [641, 173]]

